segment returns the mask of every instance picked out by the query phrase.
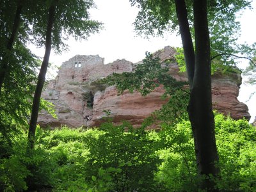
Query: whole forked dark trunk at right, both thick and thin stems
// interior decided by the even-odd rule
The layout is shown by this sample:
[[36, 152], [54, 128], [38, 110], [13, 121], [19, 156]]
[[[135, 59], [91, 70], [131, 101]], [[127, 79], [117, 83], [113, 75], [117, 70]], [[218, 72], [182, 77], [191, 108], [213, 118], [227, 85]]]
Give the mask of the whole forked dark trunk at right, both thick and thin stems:
[[207, 21], [207, 1], [194, 1], [195, 46], [188, 24], [188, 13], [184, 0], [175, 0], [180, 34], [184, 48], [191, 96], [188, 106], [189, 120], [195, 141], [195, 155], [198, 174], [203, 176], [200, 188], [214, 191], [214, 182], [207, 177], [217, 176], [218, 152], [214, 132], [211, 94], [211, 48]]

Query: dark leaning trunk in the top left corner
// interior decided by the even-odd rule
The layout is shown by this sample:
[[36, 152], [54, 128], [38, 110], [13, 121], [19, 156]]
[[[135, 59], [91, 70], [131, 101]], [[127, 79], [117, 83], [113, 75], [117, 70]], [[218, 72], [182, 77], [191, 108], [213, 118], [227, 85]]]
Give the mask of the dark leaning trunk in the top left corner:
[[10, 38], [7, 41], [6, 53], [3, 55], [3, 60], [0, 66], [0, 94], [3, 87], [4, 78], [8, 74], [10, 52], [13, 48], [13, 43], [15, 41], [15, 38], [19, 30], [20, 15], [21, 15], [22, 7], [23, 7], [22, 0], [20, 0], [16, 9], [14, 20], [13, 20], [12, 33], [10, 34]]

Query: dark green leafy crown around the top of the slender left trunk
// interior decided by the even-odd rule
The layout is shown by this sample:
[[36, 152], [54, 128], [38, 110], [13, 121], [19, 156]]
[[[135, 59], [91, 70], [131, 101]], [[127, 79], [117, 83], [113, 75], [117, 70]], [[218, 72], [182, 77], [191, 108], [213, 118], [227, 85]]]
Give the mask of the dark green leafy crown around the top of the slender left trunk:
[[32, 26], [31, 31], [29, 31], [31, 40], [39, 47], [45, 44], [47, 29], [47, 22], [45, 21], [47, 21], [48, 10], [52, 4], [56, 6], [52, 27], [52, 48], [56, 52], [67, 48], [64, 41], [68, 40], [70, 36], [76, 40], [83, 40], [102, 29], [102, 23], [90, 19], [88, 11], [95, 7], [92, 0], [36, 1], [28, 10], [24, 10], [23, 15], [27, 18], [29, 25]]

